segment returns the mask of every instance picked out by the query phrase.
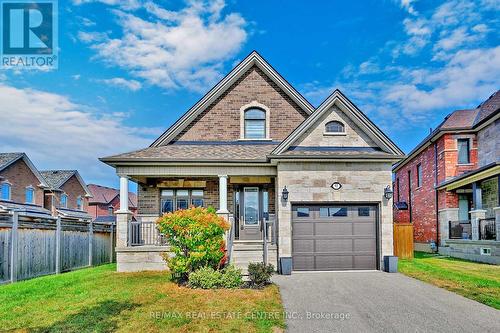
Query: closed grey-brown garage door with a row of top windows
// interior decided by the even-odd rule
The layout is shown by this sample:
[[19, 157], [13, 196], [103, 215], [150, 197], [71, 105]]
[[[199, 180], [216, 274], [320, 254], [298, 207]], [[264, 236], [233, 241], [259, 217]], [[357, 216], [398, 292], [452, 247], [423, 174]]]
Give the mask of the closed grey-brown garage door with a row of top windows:
[[296, 271], [377, 268], [377, 209], [362, 205], [292, 206]]

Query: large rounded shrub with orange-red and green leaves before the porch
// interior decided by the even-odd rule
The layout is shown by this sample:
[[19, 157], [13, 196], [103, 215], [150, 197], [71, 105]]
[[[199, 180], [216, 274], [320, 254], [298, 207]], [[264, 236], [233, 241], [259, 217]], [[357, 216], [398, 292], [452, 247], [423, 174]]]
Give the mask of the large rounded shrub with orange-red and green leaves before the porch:
[[172, 277], [185, 281], [201, 267], [218, 268], [224, 258], [226, 220], [214, 209], [189, 208], [168, 213], [157, 221], [173, 256], [164, 255]]

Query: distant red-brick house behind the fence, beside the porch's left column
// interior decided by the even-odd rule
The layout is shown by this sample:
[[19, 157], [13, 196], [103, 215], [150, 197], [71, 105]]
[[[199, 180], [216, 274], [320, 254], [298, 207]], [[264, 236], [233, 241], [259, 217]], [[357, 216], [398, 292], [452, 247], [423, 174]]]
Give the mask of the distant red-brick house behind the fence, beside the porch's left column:
[[[120, 191], [96, 184], [89, 184], [87, 188], [92, 194], [87, 210], [92, 219], [105, 222], [115, 221], [115, 211], [120, 209]], [[137, 196], [135, 193], [129, 192], [128, 194], [128, 209], [136, 215]]]

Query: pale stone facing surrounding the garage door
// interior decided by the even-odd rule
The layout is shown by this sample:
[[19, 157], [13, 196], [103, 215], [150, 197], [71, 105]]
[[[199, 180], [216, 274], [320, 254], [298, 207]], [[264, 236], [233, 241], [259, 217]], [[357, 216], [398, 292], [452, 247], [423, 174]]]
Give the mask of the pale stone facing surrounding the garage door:
[[[390, 162], [320, 163], [280, 162], [278, 189], [287, 187], [288, 200], [278, 200], [279, 256], [292, 256], [292, 203], [364, 202], [378, 205], [381, 228], [380, 267], [384, 255], [393, 254], [392, 200], [384, 198], [384, 188], [391, 184]], [[342, 189], [330, 185], [338, 181]]]

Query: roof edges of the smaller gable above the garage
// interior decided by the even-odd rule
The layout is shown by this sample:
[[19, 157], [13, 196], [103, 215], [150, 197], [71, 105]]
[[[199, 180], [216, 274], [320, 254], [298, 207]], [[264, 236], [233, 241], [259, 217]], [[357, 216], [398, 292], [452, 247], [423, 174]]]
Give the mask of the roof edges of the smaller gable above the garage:
[[[336, 105], [339, 107], [347, 117], [349, 117], [362, 131], [364, 131], [379, 147], [381, 155], [385, 155], [385, 157], [402, 157], [404, 156], [403, 151], [389, 139], [368, 117], [361, 112], [342, 92], [336, 89], [321, 105], [314, 111], [312, 115], [306, 118], [290, 135], [283, 140], [283, 142], [278, 145], [272, 152], [272, 155], [283, 155], [288, 150], [292, 148], [292, 150], [296, 150], [296, 148], [292, 147], [292, 144], [300, 138], [302, 134], [304, 134], [308, 129], [310, 129], [318, 119], [321, 119], [321, 116], [326, 112], [329, 112], [331, 107]], [[328, 148], [328, 147], [318, 147], [318, 148]], [[336, 148], [336, 147], [330, 147]], [[353, 154], [356, 154], [355, 148], [353, 148]], [[338, 155], [341, 151], [344, 154], [348, 149], [314, 149], [316, 151], [321, 152], [321, 155]], [[377, 149], [375, 149], [376, 151]], [[359, 154], [359, 152], [358, 152]], [[297, 154], [289, 154], [295, 155]], [[318, 154], [320, 155], [320, 154]]]

